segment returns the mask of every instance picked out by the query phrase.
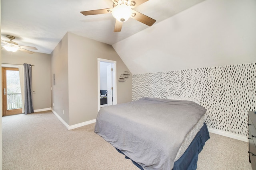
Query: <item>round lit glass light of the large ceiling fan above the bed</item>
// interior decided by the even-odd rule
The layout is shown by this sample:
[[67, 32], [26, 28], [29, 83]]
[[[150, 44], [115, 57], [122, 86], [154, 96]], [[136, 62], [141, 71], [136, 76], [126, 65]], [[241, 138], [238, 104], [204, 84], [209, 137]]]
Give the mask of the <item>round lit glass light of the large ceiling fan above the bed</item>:
[[115, 8], [112, 11], [112, 15], [114, 18], [116, 18], [116, 20], [120, 22], [125, 22], [132, 15], [132, 9], [130, 8], [130, 6], [121, 4], [121, 5], [115, 6]]

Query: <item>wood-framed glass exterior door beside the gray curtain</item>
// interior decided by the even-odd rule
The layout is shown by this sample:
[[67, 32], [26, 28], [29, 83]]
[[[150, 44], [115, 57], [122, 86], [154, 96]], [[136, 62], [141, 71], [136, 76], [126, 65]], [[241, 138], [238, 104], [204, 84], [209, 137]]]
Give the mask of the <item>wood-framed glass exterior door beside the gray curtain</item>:
[[22, 113], [18, 68], [2, 67], [2, 116]]

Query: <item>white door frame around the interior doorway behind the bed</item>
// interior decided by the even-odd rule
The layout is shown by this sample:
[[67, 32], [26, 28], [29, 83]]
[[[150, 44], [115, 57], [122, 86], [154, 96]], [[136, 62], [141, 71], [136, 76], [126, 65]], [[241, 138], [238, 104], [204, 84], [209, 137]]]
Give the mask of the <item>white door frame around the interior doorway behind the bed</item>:
[[98, 111], [100, 110], [100, 62], [113, 64], [113, 104], [117, 104], [116, 61], [98, 58]]

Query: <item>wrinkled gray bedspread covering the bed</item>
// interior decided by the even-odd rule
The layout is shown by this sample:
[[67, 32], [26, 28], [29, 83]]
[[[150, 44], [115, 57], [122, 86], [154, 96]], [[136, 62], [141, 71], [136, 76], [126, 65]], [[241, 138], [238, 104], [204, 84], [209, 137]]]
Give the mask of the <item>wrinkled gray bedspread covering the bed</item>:
[[186, 134], [205, 112], [190, 101], [141, 98], [102, 107], [95, 133], [145, 170], [171, 170]]

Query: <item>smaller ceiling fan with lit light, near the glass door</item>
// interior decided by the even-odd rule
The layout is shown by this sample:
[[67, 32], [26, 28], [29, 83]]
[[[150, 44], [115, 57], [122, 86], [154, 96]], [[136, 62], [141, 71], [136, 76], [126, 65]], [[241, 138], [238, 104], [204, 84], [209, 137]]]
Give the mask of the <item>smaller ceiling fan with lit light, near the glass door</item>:
[[26, 53], [33, 54], [34, 52], [29, 51], [29, 50], [27, 50], [27, 49], [37, 50], [36, 47], [18, 45], [18, 43], [15, 43], [14, 41], [12, 41], [13, 39], [15, 39], [14, 36], [6, 35], [6, 37], [7, 37], [8, 39], [10, 39], [10, 41], [4, 41], [4, 40], [1, 39], [1, 45], [2, 45], [2, 47], [4, 47], [4, 49], [6, 49], [7, 51], [16, 52], [17, 50], [20, 50], [20, 51], [23, 51], [23, 52], [26, 52]]

